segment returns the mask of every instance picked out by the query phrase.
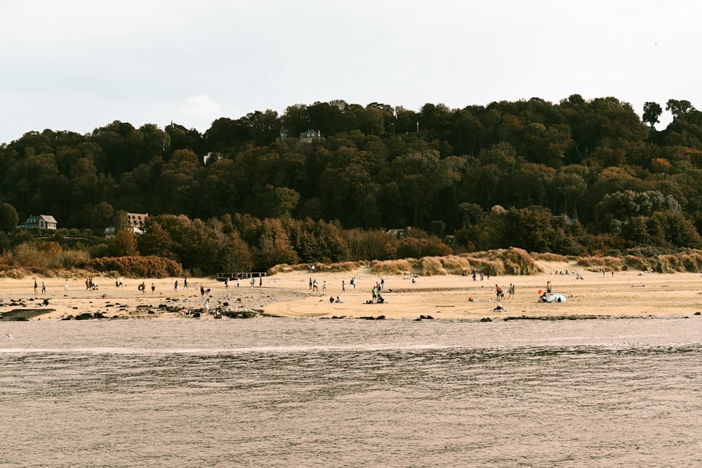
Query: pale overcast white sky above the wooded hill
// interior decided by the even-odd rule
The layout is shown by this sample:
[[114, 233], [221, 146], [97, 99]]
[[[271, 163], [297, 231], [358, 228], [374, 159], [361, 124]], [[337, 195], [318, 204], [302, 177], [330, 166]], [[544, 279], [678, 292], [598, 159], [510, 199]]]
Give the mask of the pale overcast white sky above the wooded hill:
[[700, 18], [689, 0], [0, 0], [0, 143], [334, 99], [699, 108]]

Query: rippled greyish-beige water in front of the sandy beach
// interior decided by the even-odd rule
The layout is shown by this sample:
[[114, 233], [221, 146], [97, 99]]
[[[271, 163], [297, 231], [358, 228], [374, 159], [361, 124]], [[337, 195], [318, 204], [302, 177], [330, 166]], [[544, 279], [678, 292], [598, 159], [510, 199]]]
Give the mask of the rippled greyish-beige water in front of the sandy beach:
[[2, 467], [702, 465], [697, 316], [0, 332]]

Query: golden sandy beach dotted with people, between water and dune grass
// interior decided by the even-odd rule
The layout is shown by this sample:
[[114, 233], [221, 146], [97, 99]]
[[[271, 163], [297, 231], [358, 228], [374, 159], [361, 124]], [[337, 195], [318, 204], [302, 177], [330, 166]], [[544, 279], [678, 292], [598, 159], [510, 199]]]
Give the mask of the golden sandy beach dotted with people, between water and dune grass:
[[[187, 319], [173, 310], [197, 310], [204, 307], [205, 296], [199, 292], [199, 283], [211, 289], [210, 307], [228, 311], [255, 310], [272, 316], [318, 317], [332, 316], [357, 318], [385, 316], [386, 319], [417, 319], [430, 315], [434, 319], [473, 319], [506, 316], [648, 316], [661, 314], [691, 315], [702, 311], [702, 276], [692, 273], [615, 272], [602, 276], [595, 272], [579, 271], [584, 279], [576, 279], [574, 264], [540, 262], [545, 274], [534, 276], [486, 276], [473, 281], [471, 276], [418, 276], [413, 283], [409, 275], [378, 275], [367, 268], [349, 272], [314, 274], [289, 272], [268, 276], [263, 285], [251, 288], [241, 281], [237, 288], [232, 281], [229, 289], [213, 279], [189, 279], [190, 289], [174, 291], [175, 278], [124, 279], [124, 288], [114, 287], [114, 278], [98, 278], [99, 290], [86, 290], [85, 279], [70, 278], [69, 291], [64, 291], [64, 279], [37, 277], [46, 282], [47, 292], [35, 294], [34, 277], [0, 279], [0, 314], [13, 309], [46, 309], [33, 320], [63, 319], [85, 312], [101, 312], [107, 317], [119, 318], [172, 318]], [[571, 274], [558, 274], [568, 270]], [[553, 273], [550, 273], [553, 272]], [[350, 287], [355, 276], [357, 286]], [[308, 282], [317, 279], [319, 292], [312, 292]], [[371, 299], [371, 288], [376, 281], [385, 279], [384, 304], [366, 304]], [[145, 281], [147, 290], [141, 293], [137, 286]], [[322, 291], [326, 281], [327, 291]], [[346, 292], [342, 292], [342, 281]], [[554, 293], [562, 293], [567, 302], [538, 302], [538, 290], [545, 290], [551, 281]], [[151, 293], [154, 283], [156, 290]], [[196, 286], [197, 283], [197, 286]], [[505, 291], [515, 284], [515, 298], [497, 301], [495, 285]], [[342, 303], [330, 303], [329, 297], [340, 297]], [[469, 301], [472, 298], [472, 302]], [[41, 303], [48, 299], [48, 305]], [[494, 312], [497, 305], [507, 312]], [[41, 307], [39, 307], [41, 305]], [[159, 306], [161, 306], [159, 308]], [[53, 309], [53, 310], [49, 310]], [[151, 311], [152, 314], [148, 312]], [[208, 316], [208, 318], [211, 316]]]

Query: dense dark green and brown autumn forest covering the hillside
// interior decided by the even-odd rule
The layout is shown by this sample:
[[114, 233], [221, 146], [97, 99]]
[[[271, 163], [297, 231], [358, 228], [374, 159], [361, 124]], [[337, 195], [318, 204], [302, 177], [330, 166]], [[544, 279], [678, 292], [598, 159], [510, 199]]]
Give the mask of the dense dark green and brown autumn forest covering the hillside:
[[[251, 267], [275, 257], [265, 243], [285, 244], [287, 260], [343, 261], [370, 255], [349, 233], [406, 227], [406, 239], [433, 236], [453, 252], [698, 248], [702, 112], [672, 99], [665, 111], [673, 121], [658, 130], [661, 105], [640, 117], [612, 97], [418, 112], [337, 100], [223, 117], [204, 133], [120, 121], [86, 135], [29, 132], [0, 146], [0, 229], [8, 246], [13, 212], [95, 234], [117, 213], [149, 213], [139, 251], [184, 267], [200, 265], [173, 240], [185, 220], [201, 223], [192, 236], [213, 229], [201, 257]], [[399, 240], [386, 255], [399, 255]]]

